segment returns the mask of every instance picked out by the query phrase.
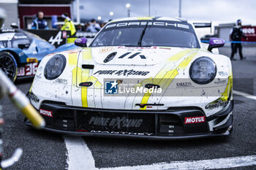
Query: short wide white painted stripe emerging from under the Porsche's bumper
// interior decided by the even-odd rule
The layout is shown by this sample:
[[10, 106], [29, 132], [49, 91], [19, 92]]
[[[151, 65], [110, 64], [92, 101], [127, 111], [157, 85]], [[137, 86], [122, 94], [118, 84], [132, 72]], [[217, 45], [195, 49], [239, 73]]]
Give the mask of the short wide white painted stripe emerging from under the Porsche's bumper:
[[91, 170], [95, 169], [94, 157], [81, 137], [64, 135], [67, 147], [68, 170]]

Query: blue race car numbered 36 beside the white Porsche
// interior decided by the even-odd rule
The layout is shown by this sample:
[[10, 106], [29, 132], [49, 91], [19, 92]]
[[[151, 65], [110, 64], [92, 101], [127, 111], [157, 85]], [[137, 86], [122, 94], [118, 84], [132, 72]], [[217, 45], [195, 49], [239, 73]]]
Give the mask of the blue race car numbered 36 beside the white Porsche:
[[10, 80], [33, 77], [38, 63], [55, 47], [21, 29], [0, 30], [0, 68]]

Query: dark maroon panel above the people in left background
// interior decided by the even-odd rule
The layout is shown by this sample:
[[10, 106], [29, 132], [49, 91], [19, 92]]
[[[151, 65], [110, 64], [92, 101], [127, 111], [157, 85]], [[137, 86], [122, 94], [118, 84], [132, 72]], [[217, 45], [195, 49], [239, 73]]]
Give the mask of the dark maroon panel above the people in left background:
[[57, 15], [61, 17], [63, 13], [67, 13], [70, 16], [70, 8], [69, 4], [20, 4], [18, 6], [18, 14], [20, 18], [20, 28], [24, 28], [25, 25], [25, 17], [35, 17], [37, 12], [42, 11], [44, 12], [45, 17], [51, 17], [52, 15]]

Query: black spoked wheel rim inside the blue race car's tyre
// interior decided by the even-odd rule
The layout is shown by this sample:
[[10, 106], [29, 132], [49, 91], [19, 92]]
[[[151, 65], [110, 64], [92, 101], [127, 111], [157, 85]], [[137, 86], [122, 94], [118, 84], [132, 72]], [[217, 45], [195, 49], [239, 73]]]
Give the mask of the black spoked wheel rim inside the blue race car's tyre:
[[0, 55], [0, 68], [3, 70], [4, 74], [10, 78], [10, 80], [15, 79], [16, 65], [10, 55]]

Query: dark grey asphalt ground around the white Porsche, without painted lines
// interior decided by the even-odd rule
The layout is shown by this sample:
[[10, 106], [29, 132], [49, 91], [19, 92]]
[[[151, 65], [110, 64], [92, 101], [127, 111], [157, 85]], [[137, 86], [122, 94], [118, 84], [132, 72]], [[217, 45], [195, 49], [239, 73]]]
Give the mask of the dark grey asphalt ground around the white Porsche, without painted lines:
[[[220, 53], [230, 55], [230, 48]], [[246, 60], [233, 63], [234, 89], [256, 94], [256, 50], [244, 48]], [[239, 82], [237, 80], [241, 79]], [[24, 93], [31, 80], [17, 83]], [[97, 168], [138, 166], [171, 161], [198, 161], [256, 155], [256, 101], [234, 95], [233, 134], [230, 137], [190, 139], [181, 141], [148, 141], [138, 139], [106, 139], [83, 137], [95, 160]], [[15, 148], [23, 149], [20, 161], [10, 169], [66, 169], [67, 149], [60, 134], [37, 131], [26, 127], [23, 115], [13, 107], [8, 98], [0, 101], [4, 113], [4, 159], [10, 158]], [[234, 169], [256, 169], [245, 166]]]

